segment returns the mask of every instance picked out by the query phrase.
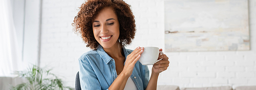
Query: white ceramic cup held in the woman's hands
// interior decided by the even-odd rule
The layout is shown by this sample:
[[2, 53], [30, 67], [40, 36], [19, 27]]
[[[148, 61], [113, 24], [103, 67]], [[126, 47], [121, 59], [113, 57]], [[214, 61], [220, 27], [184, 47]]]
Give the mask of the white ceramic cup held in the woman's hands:
[[157, 47], [144, 47], [144, 52], [141, 54], [139, 61], [142, 65], [153, 65], [162, 60], [157, 60], [159, 53], [163, 54], [163, 52], [159, 52]]

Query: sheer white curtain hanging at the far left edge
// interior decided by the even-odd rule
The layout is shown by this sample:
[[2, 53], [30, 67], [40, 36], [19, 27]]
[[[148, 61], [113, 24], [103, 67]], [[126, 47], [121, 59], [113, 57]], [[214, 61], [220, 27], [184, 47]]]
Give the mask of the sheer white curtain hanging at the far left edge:
[[13, 71], [23, 70], [22, 65], [11, 2], [0, 0], [0, 77], [12, 77]]

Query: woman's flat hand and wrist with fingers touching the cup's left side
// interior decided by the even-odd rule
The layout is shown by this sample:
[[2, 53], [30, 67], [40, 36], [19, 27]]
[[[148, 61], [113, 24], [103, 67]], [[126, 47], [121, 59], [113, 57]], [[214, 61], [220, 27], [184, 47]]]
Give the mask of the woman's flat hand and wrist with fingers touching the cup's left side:
[[125, 60], [124, 68], [121, 73], [125, 76], [131, 76], [133, 73], [133, 68], [135, 63], [139, 60], [141, 54], [143, 53], [144, 48], [136, 48], [131, 54], [129, 54]]

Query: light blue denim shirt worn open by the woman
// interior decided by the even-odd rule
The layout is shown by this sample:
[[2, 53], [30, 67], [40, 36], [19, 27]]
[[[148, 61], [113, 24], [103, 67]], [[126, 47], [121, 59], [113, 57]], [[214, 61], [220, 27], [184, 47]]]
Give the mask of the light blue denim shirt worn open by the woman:
[[[133, 50], [122, 47], [125, 59]], [[124, 62], [125, 64], [125, 62]], [[139, 90], [146, 89], [149, 81], [149, 70], [139, 61], [130, 76]], [[99, 45], [97, 50], [82, 54], [79, 58], [79, 78], [81, 89], [108, 89], [117, 78], [115, 60]]]

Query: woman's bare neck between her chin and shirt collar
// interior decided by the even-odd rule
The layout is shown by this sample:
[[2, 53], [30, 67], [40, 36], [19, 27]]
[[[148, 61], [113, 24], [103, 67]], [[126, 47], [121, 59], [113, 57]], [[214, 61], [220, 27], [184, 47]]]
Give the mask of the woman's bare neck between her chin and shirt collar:
[[122, 45], [117, 41], [111, 48], [103, 48], [104, 51], [112, 58], [124, 57]]

